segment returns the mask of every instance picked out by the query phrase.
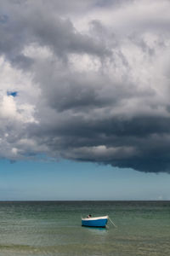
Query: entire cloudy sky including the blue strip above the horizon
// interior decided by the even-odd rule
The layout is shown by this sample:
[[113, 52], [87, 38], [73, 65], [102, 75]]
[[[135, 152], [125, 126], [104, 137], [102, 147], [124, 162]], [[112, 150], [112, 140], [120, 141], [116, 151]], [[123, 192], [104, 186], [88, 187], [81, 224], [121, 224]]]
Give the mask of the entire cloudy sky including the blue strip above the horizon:
[[170, 200], [169, 12], [0, 1], [0, 200]]

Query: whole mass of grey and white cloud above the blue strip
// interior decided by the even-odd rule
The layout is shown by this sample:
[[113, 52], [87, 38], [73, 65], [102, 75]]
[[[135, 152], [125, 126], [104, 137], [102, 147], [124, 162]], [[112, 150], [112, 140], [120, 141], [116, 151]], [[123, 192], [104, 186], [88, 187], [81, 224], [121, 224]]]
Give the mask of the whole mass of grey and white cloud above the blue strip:
[[[135, 4], [0, 3], [0, 54], [14, 67], [11, 76], [20, 71], [31, 78], [26, 102], [20, 99], [28, 93], [23, 80], [19, 89], [4, 90], [19, 95], [6, 102], [7, 116], [0, 116], [2, 157], [18, 160], [46, 154], [141, 172], [170, 172], [169, 20], [156, 21], [150, 11], [144, 20], [138, 18], [134, 11], [146, 2]], [[107, 17], [111, 10], [115, 24]], [[91, 14], [87, 20], [86, 14]], [[80, 29], [77, 24], [83, 19], [86, 28]], [[27, 111], [33, 120], [26, 120]]]

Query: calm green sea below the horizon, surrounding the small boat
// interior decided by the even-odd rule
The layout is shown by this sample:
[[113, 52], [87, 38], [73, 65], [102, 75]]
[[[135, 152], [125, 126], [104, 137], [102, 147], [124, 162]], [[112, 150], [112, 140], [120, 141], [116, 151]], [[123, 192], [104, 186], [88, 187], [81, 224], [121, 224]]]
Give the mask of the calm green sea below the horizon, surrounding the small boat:
[[[109, 215], [117, 228], [82, 227]], [[2, 201], [0, 256], [169, 256], [170, 201]]]

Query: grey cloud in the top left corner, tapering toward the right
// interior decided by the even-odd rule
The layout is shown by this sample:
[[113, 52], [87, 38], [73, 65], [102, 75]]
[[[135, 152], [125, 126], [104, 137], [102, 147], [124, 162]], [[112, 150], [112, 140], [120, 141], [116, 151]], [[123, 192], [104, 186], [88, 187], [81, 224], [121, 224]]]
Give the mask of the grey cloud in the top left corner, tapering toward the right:
[[[57, 15], [50, 5], [51, 15], [46, 15], [49, 4], [43, 1], [14, 2], [7, 1], [2, 4], [4, 15], [8, 17], [0, 27], [0, 51], [10, 61], [19, 59], [21, 51], [26, 44], [38, 42], [40, 45], [48, 45], [54, 53], [67, 57], [68, 53], [88, 53], [92, 55], [111, 55], [104, 44], [95, 41], [94, 38], [77, 32], [71, 20]], [[46, 9], [47, 6], [47, 9]], [[57, 9], [57, 7], [56, 7]], [[23, 60], [23, 57], [22, 57]], [[26, 62], [29, 60], [26, 59]]]

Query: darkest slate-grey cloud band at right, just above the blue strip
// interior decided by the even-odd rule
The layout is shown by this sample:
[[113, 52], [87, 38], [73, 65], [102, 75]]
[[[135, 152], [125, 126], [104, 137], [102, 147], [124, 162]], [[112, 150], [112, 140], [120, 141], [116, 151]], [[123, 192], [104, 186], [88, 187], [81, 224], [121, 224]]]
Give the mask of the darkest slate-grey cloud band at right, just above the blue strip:
[[[148, 117], [93, 122], [71, 116], [67, 121], [58, 122], [59, 119], [51, 120], [50, 125], [36, 129], [31, 135], [39, 137], [53, 156], [142, 172], [169, 172], [169, 119]], [[98, 148], [103, 146], [100, 152]]]

